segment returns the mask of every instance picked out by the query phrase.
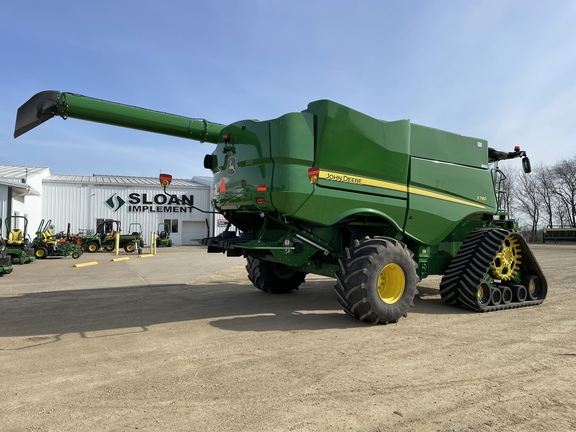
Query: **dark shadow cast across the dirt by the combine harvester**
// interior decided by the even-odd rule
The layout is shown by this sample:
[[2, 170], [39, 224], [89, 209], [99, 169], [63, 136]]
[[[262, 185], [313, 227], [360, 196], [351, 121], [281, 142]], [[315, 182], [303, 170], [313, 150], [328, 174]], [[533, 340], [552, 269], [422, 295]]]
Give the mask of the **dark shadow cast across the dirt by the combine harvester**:
[[[410, 314], [470, 313], [446, 306], [438, 291], [419, 287]], [[210, 320], [230, 331], [322, 330], [366, 326], [347, 316], [333, 281], [306, 282], [289, 294], [266, 294], [246, 283], [151, 285], [30, 293], [0, 298], [0, 337], [41, 337], [114, 330], [143, 332], [155, 324]], [[51, 336], [53, 338], [54, 336]]]

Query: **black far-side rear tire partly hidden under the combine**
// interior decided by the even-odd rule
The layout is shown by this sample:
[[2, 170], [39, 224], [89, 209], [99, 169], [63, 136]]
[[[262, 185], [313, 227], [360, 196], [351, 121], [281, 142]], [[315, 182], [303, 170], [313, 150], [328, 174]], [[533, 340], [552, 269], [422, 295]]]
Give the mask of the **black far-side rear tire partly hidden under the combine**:
[[246, 259], [246, 271], [256, 288], [270, 294], [286, 294], [296, 290], [306, 278], [306, 273], [287, 265], [252, 257]]

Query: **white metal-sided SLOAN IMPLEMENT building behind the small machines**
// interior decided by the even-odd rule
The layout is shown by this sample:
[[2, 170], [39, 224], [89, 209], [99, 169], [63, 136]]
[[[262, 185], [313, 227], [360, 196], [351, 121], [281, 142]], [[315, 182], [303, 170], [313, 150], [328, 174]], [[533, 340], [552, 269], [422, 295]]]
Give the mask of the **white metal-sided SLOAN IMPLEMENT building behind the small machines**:
[[[215, 232], [212, 178], [174, 179], [164, 193], [157, 178], [110, 175], [51, 175], [45, 167], [0, 165], [0, 215], [25, 216], [33, 238], [42, 220], [52, 232], [96, 230], [104, 219], [119, 220], [122, 232], [150, 233], [170, 227], [174, 245], [192, 245]], [[10, 218], [24, 228], [24, 218]], [[6, 226], [3, 227], [6, 233]]]

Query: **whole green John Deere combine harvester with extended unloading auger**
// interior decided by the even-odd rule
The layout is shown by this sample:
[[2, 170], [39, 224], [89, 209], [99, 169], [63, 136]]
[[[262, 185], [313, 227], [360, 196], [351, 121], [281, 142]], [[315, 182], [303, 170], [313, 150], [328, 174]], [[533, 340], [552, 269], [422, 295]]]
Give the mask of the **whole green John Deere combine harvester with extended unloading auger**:
[[428, 275], [443, 275], [447, 304], [474, 311], [546, 298], [536, 258], [498, 206], [499, 162], [522, 158], [529, 172], [519, 149], [329, 100], [221, 125], [56, 91], [20, 107], [15, 137], [54, 116], [216, 144], [204, 166], [230, 229], [204, 244], [246, 257], [262, 291], [296, 290], [308, 273], [334, 277], [344, 311], [369, 323], [406, 316]]

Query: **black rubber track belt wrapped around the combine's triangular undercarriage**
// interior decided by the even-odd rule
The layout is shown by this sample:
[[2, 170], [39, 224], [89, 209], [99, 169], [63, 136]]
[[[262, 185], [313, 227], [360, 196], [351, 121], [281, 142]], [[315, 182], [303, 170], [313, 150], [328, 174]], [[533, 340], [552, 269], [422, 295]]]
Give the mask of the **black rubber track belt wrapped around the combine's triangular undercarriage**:
[[[514, 235], [520, 243], [521, 271], [535, 274], [542, 282], [542, 295], [538, 300], [511, 302], [500, 305], [480, 305], [477, 292], [490, 265], [496, 258], [506, 238]], [[452, 260], [440, 283], [440, 296], [450, 306], [463, 307], [478, 312], [513, 309], [541, 304], [546, 298], [547, 284], [544, 274], [528, 248], [524, 238], [513, 230], [482, 228], [472, 231]]]

